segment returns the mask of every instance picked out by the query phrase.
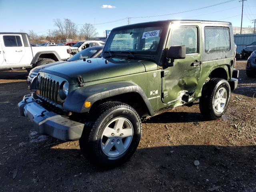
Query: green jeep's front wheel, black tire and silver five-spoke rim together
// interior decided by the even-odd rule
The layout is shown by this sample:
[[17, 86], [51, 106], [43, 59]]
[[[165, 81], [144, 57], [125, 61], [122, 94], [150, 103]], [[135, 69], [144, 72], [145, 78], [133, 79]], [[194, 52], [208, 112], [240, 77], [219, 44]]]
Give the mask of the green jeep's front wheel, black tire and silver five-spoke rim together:
[[126, 162], [140, 142], [140, 116], [131, 106], [106, 102], [98, 106], [79, 140], [82, 153], [103, 167]]

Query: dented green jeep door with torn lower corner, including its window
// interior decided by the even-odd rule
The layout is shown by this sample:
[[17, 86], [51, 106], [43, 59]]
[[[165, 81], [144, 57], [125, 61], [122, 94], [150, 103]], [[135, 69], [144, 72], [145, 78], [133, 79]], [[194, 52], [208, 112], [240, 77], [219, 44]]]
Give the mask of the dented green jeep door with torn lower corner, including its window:
[[[199, 41], [200, 24], [170, 26], [170, 37], [167, 47], [186, 45], [186, 58], [175, 60], [174, 66], [163, 70], [162, 102], [181, 105], [190, 101], [200, 80], [202, 54]], [[175, 104], [177, 103], [177, 104]]]

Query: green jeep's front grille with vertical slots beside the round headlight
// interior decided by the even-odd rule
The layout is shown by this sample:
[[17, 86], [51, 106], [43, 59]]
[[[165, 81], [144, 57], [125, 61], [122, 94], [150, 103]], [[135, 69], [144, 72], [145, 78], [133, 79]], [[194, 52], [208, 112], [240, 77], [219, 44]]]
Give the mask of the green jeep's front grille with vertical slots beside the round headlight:
[[50, 80], [46, 77], [41, 77], [38, 90], [42, 99], [52, 101], [57, 104], [58, 88], [59, 82]]

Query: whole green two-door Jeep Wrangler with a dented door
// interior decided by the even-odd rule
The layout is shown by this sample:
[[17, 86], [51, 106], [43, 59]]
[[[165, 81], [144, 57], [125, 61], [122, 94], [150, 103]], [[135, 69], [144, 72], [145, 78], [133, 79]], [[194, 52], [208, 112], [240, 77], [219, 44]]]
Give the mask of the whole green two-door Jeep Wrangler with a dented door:
[[[220, 118], [237, 86], [232, 24], [166, 20], [114, 28], [102, 52], [40, 70], [18, 104], [39, 134], [79, 140], [83, 154], [116, 166], [136, 150], [142, 119], [199, 99]], [[172, 117], [170, 117], [172, 118]]]

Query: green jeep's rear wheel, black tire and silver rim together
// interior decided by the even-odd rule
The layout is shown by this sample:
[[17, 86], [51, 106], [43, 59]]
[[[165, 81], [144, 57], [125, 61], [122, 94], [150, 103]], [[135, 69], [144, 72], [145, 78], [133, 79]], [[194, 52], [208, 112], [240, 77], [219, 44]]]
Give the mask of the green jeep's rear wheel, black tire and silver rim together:
[[220, 118], [227, 110], [230, 85], [224, 79], [214, 78], [207, 82], [199, 101], [201, 114], [208, 120]]

